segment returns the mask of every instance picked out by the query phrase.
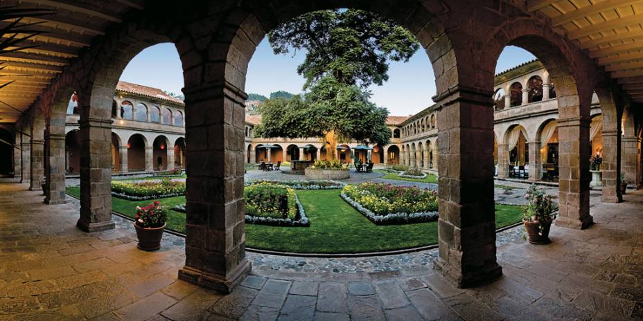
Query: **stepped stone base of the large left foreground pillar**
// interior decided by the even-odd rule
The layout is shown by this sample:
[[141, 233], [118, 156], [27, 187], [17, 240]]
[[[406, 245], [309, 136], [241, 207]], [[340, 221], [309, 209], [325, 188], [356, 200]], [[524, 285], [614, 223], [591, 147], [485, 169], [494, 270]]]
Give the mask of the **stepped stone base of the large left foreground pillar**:
[[228, 278], [215, 275], [198, 268], [184, 266], [179, 270], [179, 279], [202, 288], [209, 288], [223, 294], [232, 293], [232, 289], [250, 273], [251, 264], [247, 259], [238, 265]]

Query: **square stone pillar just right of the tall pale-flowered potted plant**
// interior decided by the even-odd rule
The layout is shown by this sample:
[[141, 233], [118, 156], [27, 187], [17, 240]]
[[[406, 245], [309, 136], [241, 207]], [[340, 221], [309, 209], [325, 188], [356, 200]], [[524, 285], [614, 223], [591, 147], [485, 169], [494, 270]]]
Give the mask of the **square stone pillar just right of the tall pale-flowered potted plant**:
[[[567, 99], [571, 101], [571, 99]], [[565, 102], [565, 100], [563, 100]], [[558, 99], [558, 110], [576, 113], [580, 106], [564, 106]], [[578, 104], [576, 102], [576, 104]], [[564, 116], [564, 115], [563, 115]], [[558, 205], [557, 226], [583, 229], [593, 223], [590, 215], [590, 119], [558, 118]]]

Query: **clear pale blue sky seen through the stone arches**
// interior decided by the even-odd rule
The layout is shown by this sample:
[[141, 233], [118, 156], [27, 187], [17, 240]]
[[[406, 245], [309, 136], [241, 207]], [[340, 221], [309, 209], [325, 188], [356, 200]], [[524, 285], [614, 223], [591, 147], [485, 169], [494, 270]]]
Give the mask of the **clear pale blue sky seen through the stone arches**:
[[[263, 39], [248, 66], [245, 91], [265, 96], [279, 90], [299, 93], [304, 80], [297, 74], [297, 65], [301, 64], [304, 55], [302, 52], [294, 56], [292, 52], [274, 55], [267, 39]], [[531, 59], [535, 59], [531, 53], [508, 46], [498, 59], [496, 73]], [[146, 48], [127, 65], [121, 80], [182, 93], [183, 71], [176, 48], [173, 44]], [[420, 49], [407, 63], [391, 62], [389, 81], [369, 88], [373, 94], [371, 100], [378, 106], [387, 107], [391, 115], [417, 113], [433, 104], [434, 80], [429, 58]]]

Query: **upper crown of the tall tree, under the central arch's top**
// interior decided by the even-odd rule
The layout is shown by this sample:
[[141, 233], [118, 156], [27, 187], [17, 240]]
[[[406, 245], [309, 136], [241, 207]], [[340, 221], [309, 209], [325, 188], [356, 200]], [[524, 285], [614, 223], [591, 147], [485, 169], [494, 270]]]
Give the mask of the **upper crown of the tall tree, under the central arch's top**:
[[280, 24], [268, 33], [275, 54], [306, 50], [297, 72], [306, 78], [304, 89], [325, 75], [344, 84], [366, 88], [388, 80], [387, 61], [403, 61], [419, 43], [391, 19], [362, 10], [309, 12]]

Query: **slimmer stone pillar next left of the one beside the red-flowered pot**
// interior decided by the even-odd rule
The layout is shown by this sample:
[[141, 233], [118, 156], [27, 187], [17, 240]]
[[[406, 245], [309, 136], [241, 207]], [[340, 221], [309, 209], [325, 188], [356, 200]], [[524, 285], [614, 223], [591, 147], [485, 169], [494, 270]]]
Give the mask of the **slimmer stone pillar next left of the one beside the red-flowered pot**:
[[[50, 130], [53, 129], [50, 126]], [[64, 127], [56, 127], [64, 133]], [[65, 151], [64, 151], [64, 134], [47, 133], [45, 139], [48, 140], [49, 153], [46, 160], [46, 189], [44, 202], [47, 204], [67, 203], [65, 200]]]

